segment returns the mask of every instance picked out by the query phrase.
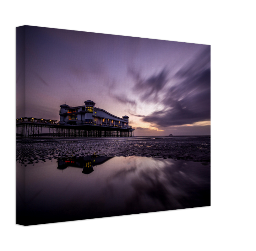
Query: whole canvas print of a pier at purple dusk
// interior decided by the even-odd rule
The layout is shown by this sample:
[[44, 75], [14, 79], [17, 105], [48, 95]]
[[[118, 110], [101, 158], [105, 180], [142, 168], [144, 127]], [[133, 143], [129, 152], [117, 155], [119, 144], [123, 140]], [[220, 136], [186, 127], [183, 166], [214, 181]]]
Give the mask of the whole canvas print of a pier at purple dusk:
[[16, 32], [17, 217], [210, 206], [211, 45]]

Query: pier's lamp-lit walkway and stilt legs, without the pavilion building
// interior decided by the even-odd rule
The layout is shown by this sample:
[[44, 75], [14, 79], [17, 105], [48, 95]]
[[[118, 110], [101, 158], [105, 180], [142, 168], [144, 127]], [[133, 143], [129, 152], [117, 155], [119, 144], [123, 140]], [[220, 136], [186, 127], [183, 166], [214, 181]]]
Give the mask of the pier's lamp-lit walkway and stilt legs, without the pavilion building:
[[[42, 121], [42, 122], [41, 122]], [[104, 125], [58, 125], [57, 120], [17, 119], [17, 137], [42, 137], [42, 128], [49, 128], [49, 137], [131, 137], [134, 128]]]

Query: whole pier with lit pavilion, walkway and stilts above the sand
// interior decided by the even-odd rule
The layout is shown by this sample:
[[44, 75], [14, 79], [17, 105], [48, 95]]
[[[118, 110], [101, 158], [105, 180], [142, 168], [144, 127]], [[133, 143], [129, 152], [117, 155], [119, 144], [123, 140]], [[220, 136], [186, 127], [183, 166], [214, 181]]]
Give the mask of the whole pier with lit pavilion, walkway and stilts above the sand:
[[134, 128], [129, 117], [117, 117], [104, 109], [96, 108], [92, 100], [84, 105], [60, 105], [60, 120], [20, 118], [16, 120], [17, 137], [42, 137], [42, 127], [49, 128], [48, 137], [131, 137]]

